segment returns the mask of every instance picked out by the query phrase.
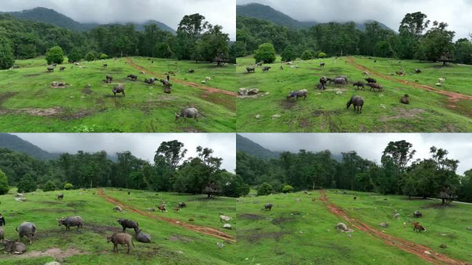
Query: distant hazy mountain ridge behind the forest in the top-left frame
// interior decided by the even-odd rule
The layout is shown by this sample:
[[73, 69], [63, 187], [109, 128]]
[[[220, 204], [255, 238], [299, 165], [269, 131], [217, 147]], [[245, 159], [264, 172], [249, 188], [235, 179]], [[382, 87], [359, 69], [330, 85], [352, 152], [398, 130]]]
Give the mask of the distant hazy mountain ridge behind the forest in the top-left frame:
[[[11, 14], [13, 17], [17, 17], [18, 19], [50, 23], [54, 26], [61, 27], [61, 28], [68, 28], [70, 30], [90, 30], [92, 28], [100, 26], [99, 23], [77, 22], [74, 19], [71, 19], [70, 17], [67, 17], [64, 14], [61, 14], [49, 8], [39, 7], [39, 8], [33, 8], [33, 9], [23, 10], [19, 12], [6, 12], [6, 13]], [[125, 24], [125, 23], [126, 22], [119, 22], [119, 24]], [[161, 23], [159, 21], [155, 21], [155, 20], [148, 20], [144, 23], [134, 23], [134, 24], [136, 25], [137, 30], [144, 30], [144, 26], [150, 23], [155, 23], [157, 27], [159, 27], [161, 30], [166, 30], [168, 32], [175, 34], [175, 30], [173, 30], [173, 28], [170, 28], [166, 24]]]

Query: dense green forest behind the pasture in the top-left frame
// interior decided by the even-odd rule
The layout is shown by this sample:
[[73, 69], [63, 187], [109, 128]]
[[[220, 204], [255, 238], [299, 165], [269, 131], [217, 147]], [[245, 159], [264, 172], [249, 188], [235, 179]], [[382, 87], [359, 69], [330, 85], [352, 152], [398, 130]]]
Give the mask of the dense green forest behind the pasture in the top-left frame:
[[155, 23], [145, 25], [141, 31], [132, 23], [79, 31], [0, 14], [0, 69], [12, 67], [14, 59], [47, 55], [51, 49], [57, 52], [59, 48], [71, 62], [123, 56], [235, 61], [235, 50], [222, 30], [222, 26], [213, 26], [201, 14], [184, 16], [176, 35]]

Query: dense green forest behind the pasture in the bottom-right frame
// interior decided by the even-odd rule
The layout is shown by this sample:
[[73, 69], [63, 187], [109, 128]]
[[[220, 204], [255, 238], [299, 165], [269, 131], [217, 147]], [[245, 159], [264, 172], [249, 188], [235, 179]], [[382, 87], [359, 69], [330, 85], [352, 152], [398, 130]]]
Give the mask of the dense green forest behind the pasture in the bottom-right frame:
[[412, 144], [391, 141], [380, 164], [364, 159], [355, 151], [342, 153], [336, 161], [329, 150], [317, 153], [284, 152], [278, 159], [264, 160], [237, 153], [237, 175], [244, 183], [257, 186], [259, 194], [313, 188], [340, 188], [383, 194], [437, 197], [472, 202], [472, 169], [456, 174], [458, 160], [448, 151], [430, 148], [431, 157], [413, 160]]

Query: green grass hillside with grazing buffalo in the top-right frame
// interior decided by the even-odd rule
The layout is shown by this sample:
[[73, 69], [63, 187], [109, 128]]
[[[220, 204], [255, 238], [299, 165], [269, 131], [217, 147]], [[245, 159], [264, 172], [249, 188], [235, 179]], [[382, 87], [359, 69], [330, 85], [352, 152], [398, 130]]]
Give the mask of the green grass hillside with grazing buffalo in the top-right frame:
[[[275, 63], [264, 64], [271, 66], [268, 72], [262, 72], [259, 67], [255, 73], [246, 73], [246, 67], [255, 61], [252, 57], [239, 58], [237, 88], [258, 88], [262, 96], [237, 99], [237, 131], [432, 133], [472, 130], [471, 66], [441, 67], [441, 63], [366, 57], [352, 60], [340, 57], [295, 61], [293, 66], [298, 68], [291, 68], [277, 57]], [[322, 61], [326, 63], [324, 68], [319, 67]], [[422, 73], [415, 74], [415, 68], [420, 68]], [[366, 78], [365, 70], [384, 86], [383, 92], [371, 92], [368, 87], [357, 90], [352, 85]], [[405, 70], [405, 77], [395, 76], [395, 71], [400, 70]], [[337, 75], [348, 76], [350, 84], [344, 87], [328, 84], [323, 92], [316, 88], [320, 77]], [[440, 77], [446, 77], [446, 82], [435, 86]], [[286, 99], [288, 92], [302, 89], [308, 90], [306, 100]], [[342, 94], [338, 95], [339, 92]], [[454, 92], [460, 95], [447, 95]], [[410, 96], [409, 105], [400, 104], [404, 94]], [[346, 102], [353, 95], [364, 97], [362, 114], [355, 113], [352, 106], [346, 110]]]

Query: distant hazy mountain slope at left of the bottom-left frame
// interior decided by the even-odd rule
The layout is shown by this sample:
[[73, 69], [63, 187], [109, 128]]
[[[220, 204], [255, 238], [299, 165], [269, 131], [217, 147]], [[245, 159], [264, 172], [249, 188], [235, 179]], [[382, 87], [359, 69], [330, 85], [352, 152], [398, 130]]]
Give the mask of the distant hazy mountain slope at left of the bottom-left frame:
[[10, 135], [8, 133], [0, 133], [0, 148], [25, 153], [41, 160], [57, 159], [57, 157], [59, 157], [57, 153], [48, 153], [38, 146], [31, 144], [29, 141], [25, 141], [16, 135]]

